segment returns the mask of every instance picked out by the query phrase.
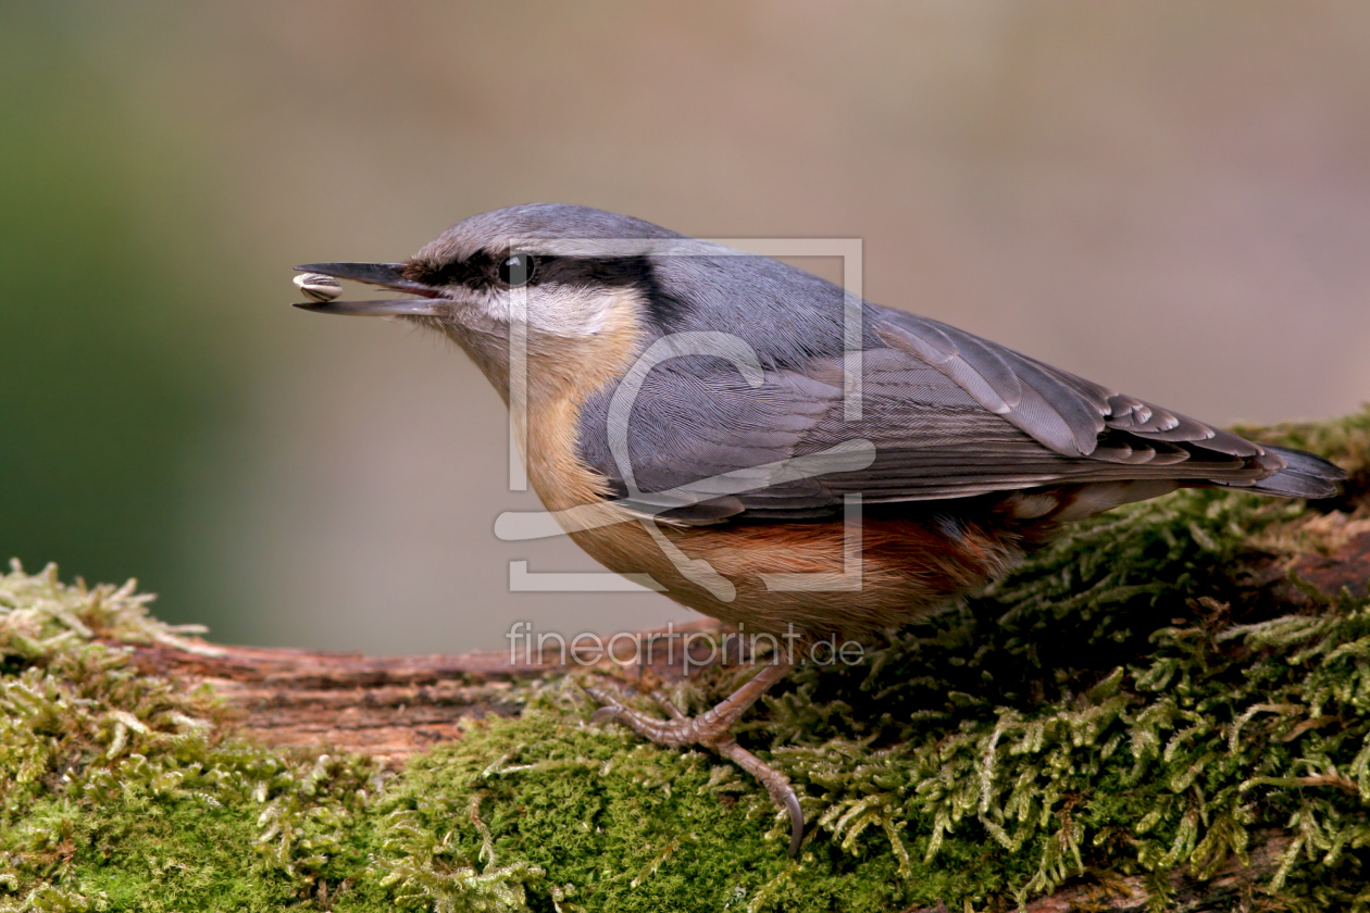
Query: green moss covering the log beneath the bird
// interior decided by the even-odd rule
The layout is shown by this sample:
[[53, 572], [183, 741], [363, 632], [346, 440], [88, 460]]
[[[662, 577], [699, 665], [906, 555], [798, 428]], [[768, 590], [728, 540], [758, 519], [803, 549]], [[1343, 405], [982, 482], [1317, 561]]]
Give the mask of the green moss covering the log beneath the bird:
[[[1370, 412], [1281, 434], [1370, 465]], [[796, 671], [741, 735], [801, 794], [796, 861], [754, 782], [589, 725], [573, 678], [382, 780], [253, 746], [208, 693], [136, 675], [118, 643], [177, 631], [132, 587], [15, 568], [0, 909], [1003, 909], [1119, 875], [1164, 906], [1164, 875], [1271, 839], [1265, 906], [1370, 909], [1370, 601], [1280, 572], [1337, 520], [1240, 493], [1133, 505], [860, 667]]]

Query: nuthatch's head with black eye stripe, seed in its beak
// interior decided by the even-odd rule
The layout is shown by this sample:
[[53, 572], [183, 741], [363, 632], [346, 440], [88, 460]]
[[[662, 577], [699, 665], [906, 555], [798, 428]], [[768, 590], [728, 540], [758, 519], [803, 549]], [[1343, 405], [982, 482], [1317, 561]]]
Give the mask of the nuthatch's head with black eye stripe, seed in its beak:
[[414, 297], [296, 307], [403, 318], [438, 330], [507, 391], [511, 337], [522, 335], [529, 367], [541, 375], [597, 375], [610, 363], [616, 370], [655, 335], [663, 309], [680, 305], [660, 287], [660, 257], [700, 244], [586, 207], [510, 207], [452, 226], [404, 263], [296, 267]]

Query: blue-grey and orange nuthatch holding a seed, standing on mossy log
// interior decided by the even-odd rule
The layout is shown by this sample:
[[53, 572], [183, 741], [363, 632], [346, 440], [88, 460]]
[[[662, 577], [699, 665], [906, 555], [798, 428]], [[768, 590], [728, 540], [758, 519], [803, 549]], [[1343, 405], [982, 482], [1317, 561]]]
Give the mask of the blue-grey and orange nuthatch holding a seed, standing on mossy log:
[[[788, 647], [915, 620], [1128, 502], [1184, 487], [1329, 498], [1345, 478], [778, 260], [588, 207], [507, 207], [403, 263], [296, 271], [299, 308], [392, 316], [463, 349], [511, 407], [532, 487], [603, 565]], [[407, 297], [338, 300], [330, 279]], [[795, 856], [793, 786], [732, 730], [801, 660], [773, 650], [693, 717], [590, 689], [593, 720], [732, 760], [788, 814]]]

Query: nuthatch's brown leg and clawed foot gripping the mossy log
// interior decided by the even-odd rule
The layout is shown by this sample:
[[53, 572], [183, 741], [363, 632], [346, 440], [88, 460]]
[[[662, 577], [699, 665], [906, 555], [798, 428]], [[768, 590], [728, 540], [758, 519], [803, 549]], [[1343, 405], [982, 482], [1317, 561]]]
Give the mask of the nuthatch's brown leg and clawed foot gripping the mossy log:
[[670, 720], [659, 720], [632, 710], [607, 691], [586, 689], [590, 697], [603, 705], [595, 712], [590, 721], [616, 720], [638, 735], [666, 747], [682, 749], [701, 745], [755, 776], [770, 793], [775, 805], [789, 814], [789, 854], [793, 857], [799, 854], [799, 843], [804, 836], [804, 812], [799, 808], [795, 787], [789, 784], [788, 776], [744, 749], [733, 738], [733, 724], [737, 723], [737, 719], [747, 712], [747, 708], [756, 704], [773, 684], [785, 678], [789, 667], [789, 663], [781, 661], [762, 667], [762, 671], [743, 687], [729, 694], [717, 706], [693, 717], [681, 713], [680, 708], [663, 694], [653, 693], [652, 697], [671, 716]]

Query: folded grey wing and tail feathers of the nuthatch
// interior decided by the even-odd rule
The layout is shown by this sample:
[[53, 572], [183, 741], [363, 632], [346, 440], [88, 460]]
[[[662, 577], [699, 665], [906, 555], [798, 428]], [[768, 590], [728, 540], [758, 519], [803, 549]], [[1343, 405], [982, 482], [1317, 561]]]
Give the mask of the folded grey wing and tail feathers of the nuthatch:
[[[648, 375], [627, 415], [638, 491], [717, 491], [707, 480], [854, 439], [874, 461], [673, 511], [682, 522], [830, 516], [843, 496], [896, 502], [1023, 487], [1185, 480], [1286, 497], [1329, 497], [1336, 467], [1260, 448], [1219, 428], [1058, 371], [969, 333], [880, 309], [886, 348], [863, 353], [862, 417], [847, 422], [841, 360], [773, 368], [751, 387], [721, 359], [677, 359]], [[586, 404], [582, 457], [619, 496], [625, 472], [607, 446], [612, 390]], [[763, 476], [758, 476], [759, 480]]]

